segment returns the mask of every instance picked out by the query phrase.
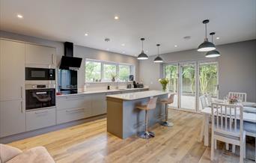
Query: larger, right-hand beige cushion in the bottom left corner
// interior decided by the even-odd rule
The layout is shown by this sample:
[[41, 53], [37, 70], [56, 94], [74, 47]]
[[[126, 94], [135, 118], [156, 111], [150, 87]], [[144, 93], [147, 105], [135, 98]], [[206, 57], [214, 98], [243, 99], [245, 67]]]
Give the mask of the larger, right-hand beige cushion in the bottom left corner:
[[14, 157], [7, 163], [54, 163], [52, 156], [49, 155], [45, 147], [34, 147], [24, 153]]

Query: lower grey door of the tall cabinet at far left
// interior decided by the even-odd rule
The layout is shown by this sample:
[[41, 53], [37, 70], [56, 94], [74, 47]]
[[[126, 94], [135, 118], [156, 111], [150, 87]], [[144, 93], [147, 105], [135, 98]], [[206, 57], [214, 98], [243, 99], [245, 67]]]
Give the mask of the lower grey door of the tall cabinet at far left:
[[0, 138], [25, 132], [25, 103], [22, 100], [0, 102]]

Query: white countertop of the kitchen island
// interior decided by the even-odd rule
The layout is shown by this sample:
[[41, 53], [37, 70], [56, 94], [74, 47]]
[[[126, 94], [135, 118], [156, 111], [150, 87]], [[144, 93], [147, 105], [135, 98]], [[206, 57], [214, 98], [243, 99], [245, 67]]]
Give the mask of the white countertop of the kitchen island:
[[107, 95], [107, 97], [111, 97], [115, 99], [123, 99], [123, 100], [134, 100], [134, 99], [144, 99], [150, 96], [160, 96], [164, 94], [168, 94], [168, 92], [163, 92], [160, 90], [148, 90], [148, 91], [134, 92], [134, 93]]

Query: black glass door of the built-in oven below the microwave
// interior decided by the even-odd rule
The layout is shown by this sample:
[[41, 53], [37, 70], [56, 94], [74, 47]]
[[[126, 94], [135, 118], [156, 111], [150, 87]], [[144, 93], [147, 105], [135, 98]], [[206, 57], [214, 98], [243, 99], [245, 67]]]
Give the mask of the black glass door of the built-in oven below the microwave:
[[48, 108], [55, 106], [55, 89], [25, 90], [25, 109]]

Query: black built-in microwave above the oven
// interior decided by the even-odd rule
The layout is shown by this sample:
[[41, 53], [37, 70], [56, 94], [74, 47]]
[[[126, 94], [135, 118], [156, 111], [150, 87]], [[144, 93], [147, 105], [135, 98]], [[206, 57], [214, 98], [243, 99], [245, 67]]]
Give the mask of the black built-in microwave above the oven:
[[25, 67], [26, 81], [55, 81], [55, 69]]

